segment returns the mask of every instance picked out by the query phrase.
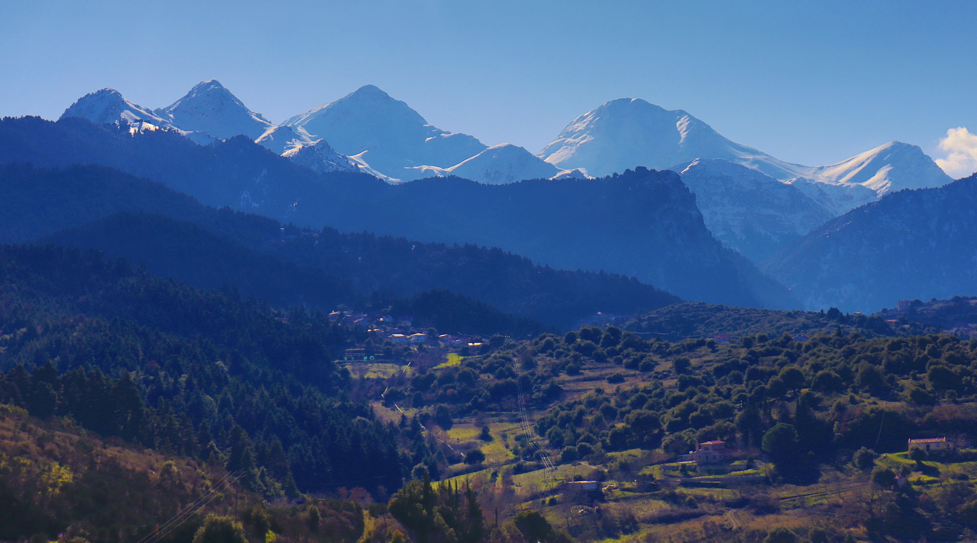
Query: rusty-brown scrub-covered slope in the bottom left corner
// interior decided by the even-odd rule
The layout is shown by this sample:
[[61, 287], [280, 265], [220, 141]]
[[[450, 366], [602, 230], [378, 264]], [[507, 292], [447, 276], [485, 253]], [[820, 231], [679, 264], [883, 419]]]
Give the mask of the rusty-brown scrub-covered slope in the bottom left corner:
[[[0, 405], [0, 538], [6, 541], [65, 531], [99, 541], [139, 539], [197, 496], [212, 498], [218, 512], [229, 511], [235, 498], [254, 498], [227, 475], [219, 466], [79, 434], [70, 422], [40, 424], [22, 409]], [[191, 522], [168, 540], [192, 537], [194, 529]]]

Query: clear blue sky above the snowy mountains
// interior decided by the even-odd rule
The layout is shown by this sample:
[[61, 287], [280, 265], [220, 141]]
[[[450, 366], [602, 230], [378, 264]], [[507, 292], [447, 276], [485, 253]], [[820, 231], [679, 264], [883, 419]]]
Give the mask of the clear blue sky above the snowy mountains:
[[619, 97], [824, 164], [977, 132], [977, 2], [0, 2], [0, 115], [113, 87], [159, 107], [217, 78], [279, 122], [373, 83], [533, 152]]

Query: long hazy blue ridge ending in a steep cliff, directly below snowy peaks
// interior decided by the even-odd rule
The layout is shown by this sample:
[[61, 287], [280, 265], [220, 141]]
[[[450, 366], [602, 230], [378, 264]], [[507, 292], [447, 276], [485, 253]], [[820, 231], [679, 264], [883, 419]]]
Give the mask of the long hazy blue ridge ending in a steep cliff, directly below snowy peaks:
[[133, 138], [77, 119], [5, 119], [0, 144], [0, 162], [105, 164], [207, 204], [301, 226], [497, 246], [556, 268], [633, 275], [692, 300], [791, 304], [775, 281], [712, 237], [692, 193], [672, 172], [390, 186], [361, 174], [318, 175], [244, 138], [195, 146], [174, 134]]

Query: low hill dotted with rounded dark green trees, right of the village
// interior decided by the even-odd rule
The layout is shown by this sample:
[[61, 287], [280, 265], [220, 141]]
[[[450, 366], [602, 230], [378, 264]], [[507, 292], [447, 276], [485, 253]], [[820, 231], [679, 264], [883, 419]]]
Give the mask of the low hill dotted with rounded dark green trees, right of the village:
[[416, 407], [439, 405], [430, 416], [449, 420], [514, 406], [519, 391], [548, 405], [562, 397], [561, 374], [610, 362], [621, 371], [608, 381], [624, 374], [640, 381], [613, 394], [598, 388], [538, 419], [536, 433], [552, 452], [599, 461], [608, 451], [678, 454], [725, 439], [766, 452], [795, 479], [816, 477], [819, 463], [861, 446], [900, 450], [913, 436], [977, 430], [977, 342], [954, 336], [836, 329], [807, 341], [757, 334], [731, 344], [670, 343], [611, 326], [524, 342], [499, 337], [486, 349], [454, 368], [395, 380], [396, 392]]

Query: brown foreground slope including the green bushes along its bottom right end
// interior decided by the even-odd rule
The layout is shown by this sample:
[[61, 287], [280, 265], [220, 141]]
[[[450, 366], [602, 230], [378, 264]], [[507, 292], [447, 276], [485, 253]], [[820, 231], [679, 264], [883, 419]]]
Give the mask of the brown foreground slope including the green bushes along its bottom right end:
[[[0, 405], [0, 538], [180, 543], [197, 534], [353, 543], [352, 500], [269, 505], [220, 461], [103, 439], [70, 417], [40, 420]], [[120, 499], [124, 496], [124, 499]]]

